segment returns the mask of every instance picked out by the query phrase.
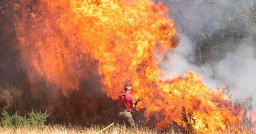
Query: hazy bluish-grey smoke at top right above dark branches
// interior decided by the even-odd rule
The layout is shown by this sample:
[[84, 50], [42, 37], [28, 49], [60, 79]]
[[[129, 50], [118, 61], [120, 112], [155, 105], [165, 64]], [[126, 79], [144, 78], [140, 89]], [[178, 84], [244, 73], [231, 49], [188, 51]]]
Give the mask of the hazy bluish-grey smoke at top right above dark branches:
[[234, 23], [237, 28], [243, 27], [246, 21], [241, 19], [241, 15], [253, 5], [253, 1], [250, 0], [163, 0], [163, 2], [171, 9], [170, 15], [175, 20], [177, 29], [189, 38], [230, 27], [230, 20], [239, 19]]

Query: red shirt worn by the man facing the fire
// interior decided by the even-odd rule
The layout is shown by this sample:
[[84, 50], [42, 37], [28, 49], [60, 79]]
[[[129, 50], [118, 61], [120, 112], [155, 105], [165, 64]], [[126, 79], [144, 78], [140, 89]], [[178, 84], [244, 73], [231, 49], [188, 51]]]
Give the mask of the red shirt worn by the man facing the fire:
[[118, 96], [118, 107], [132, 112], [133, 98], [131, 94], [122, 93]]

